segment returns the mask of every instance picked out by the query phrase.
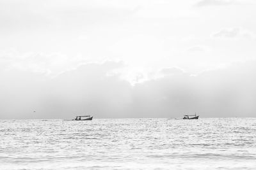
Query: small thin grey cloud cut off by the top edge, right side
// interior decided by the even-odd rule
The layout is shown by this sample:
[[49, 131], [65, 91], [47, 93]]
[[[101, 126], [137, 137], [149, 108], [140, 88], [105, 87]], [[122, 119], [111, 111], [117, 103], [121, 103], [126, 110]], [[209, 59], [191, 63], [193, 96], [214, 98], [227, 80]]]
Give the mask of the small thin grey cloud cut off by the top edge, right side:
[[225, 6], [230, 4], [236, 4], [237, 1], [234, 0], [202, 0], [198, 1], [195, 6]]

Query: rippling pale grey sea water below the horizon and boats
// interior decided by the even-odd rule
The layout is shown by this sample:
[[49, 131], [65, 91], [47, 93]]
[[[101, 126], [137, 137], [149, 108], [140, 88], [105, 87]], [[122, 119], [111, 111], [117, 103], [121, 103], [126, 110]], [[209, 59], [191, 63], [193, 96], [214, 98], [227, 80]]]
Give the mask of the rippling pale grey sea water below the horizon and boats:
[[256, 118], [0, 120], [0, 169], [256, 169]]

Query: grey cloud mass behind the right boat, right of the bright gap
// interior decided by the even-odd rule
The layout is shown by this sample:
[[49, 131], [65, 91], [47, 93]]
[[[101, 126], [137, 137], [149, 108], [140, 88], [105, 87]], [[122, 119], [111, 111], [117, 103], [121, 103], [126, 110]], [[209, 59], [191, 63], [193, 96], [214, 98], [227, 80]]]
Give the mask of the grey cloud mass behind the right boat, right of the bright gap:
[[254, 117], [255, 66], [256, 62], [237, 62], [198, 76], [184, 73], [138, 84], [134, 108], [143, 110], [145, 117], [148, 113], [179, 117], [193, 112], [207, 117]]

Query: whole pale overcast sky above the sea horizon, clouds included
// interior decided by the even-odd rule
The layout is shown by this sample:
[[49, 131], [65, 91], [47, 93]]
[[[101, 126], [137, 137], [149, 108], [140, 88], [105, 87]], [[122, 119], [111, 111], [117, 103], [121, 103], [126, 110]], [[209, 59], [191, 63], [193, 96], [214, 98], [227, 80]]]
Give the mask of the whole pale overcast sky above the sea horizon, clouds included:
[[0, 119], [255, 117], [252, 0], [1, 0]]

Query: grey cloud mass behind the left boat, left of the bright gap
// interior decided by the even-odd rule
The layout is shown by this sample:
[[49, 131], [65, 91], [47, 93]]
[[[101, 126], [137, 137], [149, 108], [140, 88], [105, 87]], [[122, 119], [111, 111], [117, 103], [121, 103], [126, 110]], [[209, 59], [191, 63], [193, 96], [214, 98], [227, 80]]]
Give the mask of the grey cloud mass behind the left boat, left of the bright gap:
[[68, 118], [84, 112], [122, 117], [131, 85], [108, 74], [122, 66], [113, 61], [82, 64], [55, 78], [17, 69], [0, 72], [0, 117]]

